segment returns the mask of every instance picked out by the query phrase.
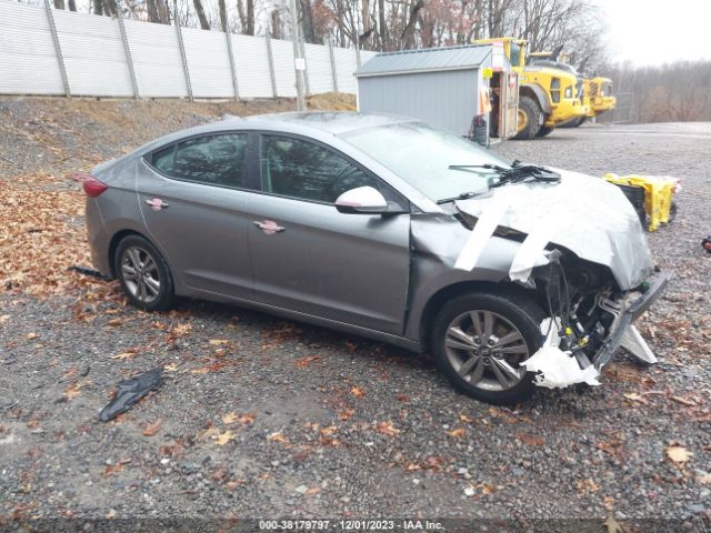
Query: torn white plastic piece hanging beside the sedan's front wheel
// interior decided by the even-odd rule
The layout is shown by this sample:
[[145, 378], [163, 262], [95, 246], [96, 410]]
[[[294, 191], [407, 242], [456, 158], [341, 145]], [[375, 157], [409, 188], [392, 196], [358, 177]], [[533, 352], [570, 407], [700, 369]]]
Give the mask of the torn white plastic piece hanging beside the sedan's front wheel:
[[600, 372], [594, 365], [581, 369], [578, 360], [570, 352], [563, 352], [558, 348], [561, 341], [558, 334], [560, 319], [555, 318], [551, 324], [552, 320], [552, 318], [548, 318], [541, 322], [541, 333], [548, 335], [543, 346], [523, 361], [521, 366], [524, 366], [529, 372], [540, 372], [533, 383], [547, 389], [564, 389], [574, 383], [599, 385], [600, 382], [597, 378]]

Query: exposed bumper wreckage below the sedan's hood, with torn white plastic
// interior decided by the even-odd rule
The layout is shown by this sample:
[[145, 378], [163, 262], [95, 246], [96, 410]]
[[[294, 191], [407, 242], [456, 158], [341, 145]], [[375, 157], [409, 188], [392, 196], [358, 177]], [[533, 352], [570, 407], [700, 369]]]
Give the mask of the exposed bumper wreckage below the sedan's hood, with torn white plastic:
[[530, 278], [537, 300], [545, 303], [549, 314], [541, 323], [544, 341], [522, 363], [538, 373], [538, 385], [597, 385], [618, 348], [647, 364], [657, 362], [633, 322], [661, 295], [669, 282], [667, 274], [657, 273], [623, 291], [602, 265], [585, 263], [570, 251], [553, 249], [547, 254], [550, 262], [534, 268]]

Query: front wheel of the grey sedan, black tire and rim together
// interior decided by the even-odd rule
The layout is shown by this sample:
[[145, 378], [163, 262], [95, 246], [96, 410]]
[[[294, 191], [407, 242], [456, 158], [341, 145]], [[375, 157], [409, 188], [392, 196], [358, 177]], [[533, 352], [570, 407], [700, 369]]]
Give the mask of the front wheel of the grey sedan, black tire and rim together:
[[[482, 335], [477, 335], [472, 313], [477, 313], [479, 318]], [[489, 328], [493, 333], [489, 336], [493, 341], [491, 348], [484, 345], [488, 339], [483, 339], [482, 342], [487, 332], [484, 313], [489, 313], [493, 319], [492, 326]], [[440, 372], [458, 391], [497, 405], [522, 402], [533, 394], [533, 373], [525, 372], [518, 364], [539, 349], [542, 338], [539, 324], [544, 316], [538, 304], [515, 292], [462, 294], [447, 302], [437, 314], [431, 332], [431, 352]], [[459, 326], [455, 335], [452, 334], [453, 324]], [[519, 338], [500, 346], [514, 353], [499, 353], [497, 358], [497, 342], [514, 332]], [[459, 333], [464, 333], [469, 341], [462, 342], [463, 338]], [[469, 348], [477, 346], [477, 342], [479, 355]], [[502, 371], [502, 366], [497, 363], [501, 359], [508, 363], [508, 371]], [[460, 375], [462, 369], [467, 369], [463, 376]], [[514, 378], [507, 373], [511, 370], [517, 371], [519, 375]], [[501, 384], [500, 374], [504, 376], [503, 381], [507, 381], [509, 386], [504, 388]], [[475, 383], [472, 383], [474, 380]]]

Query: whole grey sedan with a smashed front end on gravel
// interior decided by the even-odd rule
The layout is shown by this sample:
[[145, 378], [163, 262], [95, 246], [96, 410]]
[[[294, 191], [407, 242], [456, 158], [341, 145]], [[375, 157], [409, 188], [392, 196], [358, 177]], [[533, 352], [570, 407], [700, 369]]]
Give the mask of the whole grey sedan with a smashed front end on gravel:
[[665, 283], [614, 185], [405, 118], [230, 118], [83, 188], [92, 261], [133, 305], [219, 300], [427, 350], [493, 403], [649, 352], [631, 322]]

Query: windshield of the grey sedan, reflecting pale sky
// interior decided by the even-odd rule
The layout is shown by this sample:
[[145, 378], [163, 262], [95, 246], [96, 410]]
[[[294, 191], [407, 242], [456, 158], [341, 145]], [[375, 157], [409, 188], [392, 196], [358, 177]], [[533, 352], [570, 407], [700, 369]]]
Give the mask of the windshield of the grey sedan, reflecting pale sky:
[[479, 165], [510, 168], [472, 141], [422, 122], [357, 130], [343, 139], [435, 202], [485, 192], [495, 174]]

